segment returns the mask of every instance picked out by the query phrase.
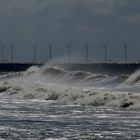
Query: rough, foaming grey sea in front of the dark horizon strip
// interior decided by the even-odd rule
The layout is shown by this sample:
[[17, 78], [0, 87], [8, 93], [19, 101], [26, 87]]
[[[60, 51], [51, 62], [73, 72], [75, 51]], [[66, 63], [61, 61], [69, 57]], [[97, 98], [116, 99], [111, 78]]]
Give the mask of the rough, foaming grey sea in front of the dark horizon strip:
[[139, 140], [140, 70], [59, 65], [0, 74], [0, 140]]

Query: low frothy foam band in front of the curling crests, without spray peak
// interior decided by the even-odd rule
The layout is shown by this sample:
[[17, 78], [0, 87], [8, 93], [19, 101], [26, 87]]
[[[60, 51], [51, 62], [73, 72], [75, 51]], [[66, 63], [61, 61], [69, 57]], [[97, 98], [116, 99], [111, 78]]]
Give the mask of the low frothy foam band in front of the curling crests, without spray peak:
[[[23, 80], [23, 79], [22, 79]], [[63, 87], [57, 84], [45, 84], [38, 81], [12, 80], [4, 86], [7, 91], [2, 98], [54, 100], [57, 103], [70, 103], [94, 106], [140, 107], [140, 94], [111, 92], [94, 88]], [[0, 85], [2, 86], [2, 85]]]

